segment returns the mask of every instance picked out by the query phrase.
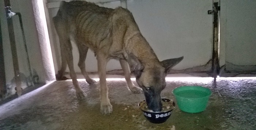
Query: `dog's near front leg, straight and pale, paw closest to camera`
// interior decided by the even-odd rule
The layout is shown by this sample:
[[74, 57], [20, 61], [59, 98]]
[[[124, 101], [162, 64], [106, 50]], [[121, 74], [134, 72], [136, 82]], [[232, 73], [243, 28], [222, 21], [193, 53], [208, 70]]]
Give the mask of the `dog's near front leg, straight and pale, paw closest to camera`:
[[99, 73], [99, 83], [101, 86], [101, 113], [109, 114], [112, 113], [112, 105], [110, 104], [108, 96], [108, 86], [106, 84], [106, 64], [107, 59], [105, 54], [97, 53], [98, 61], [98, 73]]

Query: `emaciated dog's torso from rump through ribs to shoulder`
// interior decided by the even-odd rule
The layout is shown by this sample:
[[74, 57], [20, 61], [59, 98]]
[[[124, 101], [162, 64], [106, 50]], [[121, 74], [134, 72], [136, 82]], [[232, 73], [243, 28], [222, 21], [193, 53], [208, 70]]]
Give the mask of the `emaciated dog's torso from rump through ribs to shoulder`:
[[[99, 7], [86, 1], [62, 1], [53, 21], [59, 36], [65, 35], [70, 40], [79, 39], [94, 52], [104, 48], [112, 58], [116, 54], [111, 53], [123, 49], [127, 26], [139, 31], [127, 9]], [[109, 50], [113, 45], [115, 49]]]

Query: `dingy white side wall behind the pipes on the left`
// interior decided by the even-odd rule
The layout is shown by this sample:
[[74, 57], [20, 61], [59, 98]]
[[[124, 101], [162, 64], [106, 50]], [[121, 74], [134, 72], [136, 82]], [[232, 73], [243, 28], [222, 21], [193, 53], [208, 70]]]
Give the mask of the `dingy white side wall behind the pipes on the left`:
[[[20, 12], [22, 15], [23, 27], [27, 42], [27, 49], [30, 58], [31, 69], [34, 69], [38, 76], [39, 82], [45, 83], [45, 71], [43, 69], [42, 56], [39, 48], [38, 34], [35, 27], [33, 6], [31, 0], [10, 0], [12, 12]], [[1, 19], [1, 31], [3, 36], [3, 48], [4, 48], [4, 63], [5, 74], [7, 83], [14, 78], [14, 70], [12, 63], [11, 46], [9, 40], [9, 33], [7, 28], [7, 20], [4, 9], [4, 1], [0, 1], [0, 19]], [[16, 41], [16, 48], [18, 54], [19, 69], [21, 73], [29, 76], [29, 69], [27, 66], [27, 58], [25, 53], [25, 47], [23, 43], [22, 32], [20, 29], [18, 15], [13, 17], [14, 35]], [[33, 71], [33, 70], [32, 70]]]

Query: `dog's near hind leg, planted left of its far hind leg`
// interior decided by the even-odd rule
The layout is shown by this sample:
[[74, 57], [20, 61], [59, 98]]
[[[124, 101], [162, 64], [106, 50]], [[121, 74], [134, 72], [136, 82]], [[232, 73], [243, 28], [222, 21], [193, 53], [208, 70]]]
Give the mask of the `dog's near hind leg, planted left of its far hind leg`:
[[72, 45], [70, 40], [66, 40], [66, 43], [64, 43], [65, 45], [65, 58], [67, 60], [68, 63], [68, 68], [70, 71], [70, 77], [73, 81], [75, 90], [76, 90], [76, 96], [79, 99], [83, 99], [84, 97], [86, 97], [86, 93], [83, 92], [83, 90], [80, 88], [78, 81], [76, 80], [76, 73], [74, 70], [74, 63], [73, 63], [73, 55], [72, 55]]

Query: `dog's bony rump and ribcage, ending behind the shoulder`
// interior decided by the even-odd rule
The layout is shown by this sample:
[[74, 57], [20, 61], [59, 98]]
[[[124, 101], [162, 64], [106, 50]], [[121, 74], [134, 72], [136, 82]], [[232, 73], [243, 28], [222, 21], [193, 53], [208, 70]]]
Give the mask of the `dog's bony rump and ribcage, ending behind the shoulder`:
[[53, 18], [54, 25], [57, 26], [58, 33], [64, 31], [71, 40], [79, 38], [93, 49], [109, 32], [108, 17], [111, 10], [113, 9], [102, 8], [86, 1], [62, 1], [57, 15]]

